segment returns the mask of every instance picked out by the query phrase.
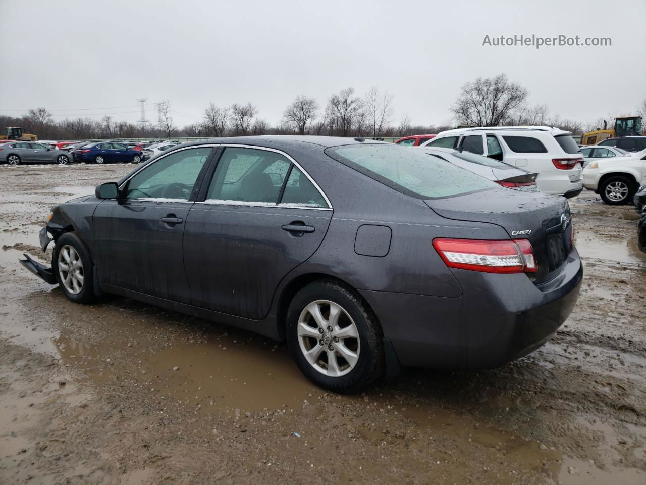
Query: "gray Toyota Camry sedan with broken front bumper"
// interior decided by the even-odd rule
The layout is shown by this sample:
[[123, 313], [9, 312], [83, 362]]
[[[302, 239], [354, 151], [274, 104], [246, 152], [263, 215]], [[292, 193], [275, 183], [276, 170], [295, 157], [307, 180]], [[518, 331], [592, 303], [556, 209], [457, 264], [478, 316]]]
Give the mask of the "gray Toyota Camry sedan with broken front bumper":
[[118, 294], [287, 340], [312, 382], [353, 392], [545, 343], [583, 277], [571, 221], [563, 197], [406, 147], [216, 138], [54, 206], [52, 267], [23, 264], [74, 302]]

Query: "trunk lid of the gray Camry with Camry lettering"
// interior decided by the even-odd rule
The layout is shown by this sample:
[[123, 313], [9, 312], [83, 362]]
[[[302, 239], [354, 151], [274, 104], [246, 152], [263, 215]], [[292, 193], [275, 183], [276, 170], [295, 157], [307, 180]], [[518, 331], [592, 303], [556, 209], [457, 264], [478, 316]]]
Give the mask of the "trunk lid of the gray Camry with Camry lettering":
[[425, 202], [446, 219], [497, 224], [510, 239], [528, 239], [538, 265], [536, 274], [530, 275], [535, 284], [555, 277], [567, 261], [572, 216], [563, 197], [501, 188], [495, 197], [471, 194]]

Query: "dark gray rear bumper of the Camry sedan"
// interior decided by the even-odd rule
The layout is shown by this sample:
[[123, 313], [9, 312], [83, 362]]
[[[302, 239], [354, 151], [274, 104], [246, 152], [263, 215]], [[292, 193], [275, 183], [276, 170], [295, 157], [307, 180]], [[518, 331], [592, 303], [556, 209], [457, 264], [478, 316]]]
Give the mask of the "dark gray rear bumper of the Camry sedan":
[[461, 297], [361, 292], [402, 365], [486, 369], [529, 354], [572, 312], [583, 266], [573, 248], [561, 274], [543, 285], [525, 274], [453, 275]]

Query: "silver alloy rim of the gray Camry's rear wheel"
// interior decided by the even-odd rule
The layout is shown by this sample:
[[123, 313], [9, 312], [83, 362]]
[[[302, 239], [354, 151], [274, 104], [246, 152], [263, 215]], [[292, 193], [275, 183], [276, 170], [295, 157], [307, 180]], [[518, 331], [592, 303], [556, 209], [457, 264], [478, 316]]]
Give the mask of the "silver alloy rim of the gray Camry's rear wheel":
[[359, 329], [348, 312], [333, 301], [309, 303], [298, 317], [297, 335], [307, 362], [321, 374], [344, 376], [359, 361]]

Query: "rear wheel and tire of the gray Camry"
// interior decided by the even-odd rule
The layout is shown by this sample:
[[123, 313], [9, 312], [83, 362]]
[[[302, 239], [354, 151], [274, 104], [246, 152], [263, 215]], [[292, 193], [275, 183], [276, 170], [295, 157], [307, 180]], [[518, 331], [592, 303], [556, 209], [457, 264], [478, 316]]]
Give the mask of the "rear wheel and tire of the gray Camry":
[[379, 321], [348, 286], [333, 280], [310, 283], [292, 299], [286, 323], [298, 368], [319, 387], [355, 393], [383, 374]]

